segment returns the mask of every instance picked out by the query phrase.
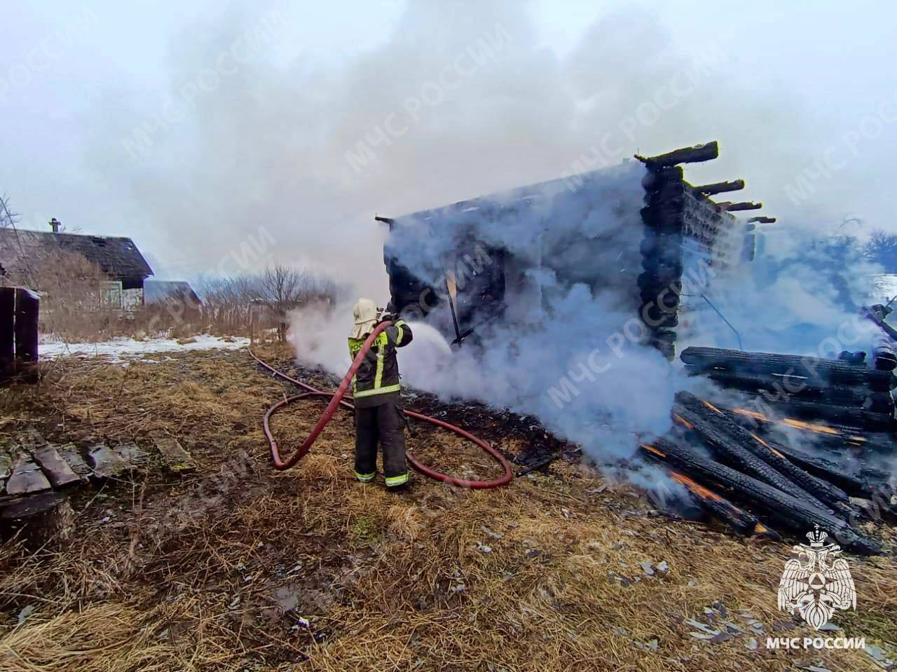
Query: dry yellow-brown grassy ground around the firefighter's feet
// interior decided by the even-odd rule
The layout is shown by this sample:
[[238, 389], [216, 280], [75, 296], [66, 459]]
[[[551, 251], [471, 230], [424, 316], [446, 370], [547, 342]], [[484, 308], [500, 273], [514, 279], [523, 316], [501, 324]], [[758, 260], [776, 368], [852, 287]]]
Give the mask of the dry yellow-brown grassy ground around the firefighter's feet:
[[[260, 354], [289, 368], [288, 353]], [[498, 490], [417, 476], [396, 496], [353, 480], [347, 413], [298, 467], [275, 472], [260, 418], [292, 388], [248, 353], [43, 369], [39, 386], [0, 393], [0, 436], [33, 424], [53, 441], [149, 451], [149, 433], [168, 432], [197, 466], [175, 474], [151, 458], [74, 492], [71, 545], [0, 546], [0, 671], [881, 669], [864, 651], [766, 650], [767, 636], [810, 634], [776, 609], [788, 545], [660, 516], [531, 419], [410, 398], [517, 457], [518, 471], [566, 458]], [[274, 417], [284, 452], [322, 408]], [[499, 473], [426, 425], [408, 447], [447, 473]], [[858, 610], [832, 634], [893, 659], [894, 561], [850, 562]]]

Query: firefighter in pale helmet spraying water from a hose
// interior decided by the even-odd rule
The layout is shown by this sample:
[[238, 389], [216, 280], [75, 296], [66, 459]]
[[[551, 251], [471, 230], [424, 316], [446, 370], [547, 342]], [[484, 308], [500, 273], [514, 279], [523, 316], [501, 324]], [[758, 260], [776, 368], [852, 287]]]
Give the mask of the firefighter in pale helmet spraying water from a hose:
[[368, 483], [377, 476], [377, 443], [383, 449], [383, 476], [390, 491], [405, 489], [405, 416], [399, 408], [396, 348], [411, 343], [411, 328], [392, 315], [391, 305], [379, 316], [370, 299], [359, 299], [353, 309], [355, 325], [349, 335], [353, 360], [365, 339], [382, 321], [393, 324], [379, 333], [353, 379], [355, 397], [355, 477]]

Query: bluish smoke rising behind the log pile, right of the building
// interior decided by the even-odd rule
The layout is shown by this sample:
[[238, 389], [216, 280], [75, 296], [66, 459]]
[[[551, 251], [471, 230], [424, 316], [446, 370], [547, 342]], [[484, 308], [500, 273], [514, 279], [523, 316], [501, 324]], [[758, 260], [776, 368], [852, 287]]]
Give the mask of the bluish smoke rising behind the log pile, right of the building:
[[864, 258], [853, 240], [817, 237], [788, 223], [774, 226], [762, 232], [752, 263], [714, 277], [701, 292], [710, 302], [688, 297], [695, 310], [680, 329], [680, 345], [871, 356], [880, 332], [860, 309], [871, 302], [871, 276], [884, 270]]

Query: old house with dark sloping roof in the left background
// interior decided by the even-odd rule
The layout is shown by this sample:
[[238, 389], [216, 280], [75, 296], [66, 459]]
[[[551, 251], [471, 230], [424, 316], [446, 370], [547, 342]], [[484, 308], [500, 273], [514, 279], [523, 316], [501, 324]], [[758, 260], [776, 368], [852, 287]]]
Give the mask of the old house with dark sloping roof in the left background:
[[105, 307], [136, 310], [144, 305], [144, 281], [152, 268], [134, 240], [117, 236], [91, 236], [55, 231], [0, 229], [0, 275], [23, 284], [36, 284], [41, 266], [53, 264], [60, 254], [81, 255], [98, 266], [108, 279], [101, 283]]

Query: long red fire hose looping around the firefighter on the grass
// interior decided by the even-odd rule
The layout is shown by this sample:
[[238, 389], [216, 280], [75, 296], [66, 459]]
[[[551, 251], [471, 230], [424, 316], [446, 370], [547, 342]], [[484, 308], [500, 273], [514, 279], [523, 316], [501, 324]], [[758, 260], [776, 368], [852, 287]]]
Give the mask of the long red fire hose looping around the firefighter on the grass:
[[[262, 421], [262, 425], [265, 429], [265, 436], [268, 440], [268, 443], [271, 444], [271, 458], [274, 460], [274, 468], [283, 471], [284, 469], [289, 469], [290, 467], [295, 466], [297, 462], [301, 458], [304, 458], [306, 453], [311, 449], [311, 444], [318, 439], [318, 434], [324, 429], [327, 423], [330, 422], [331, 418], [333, 418], [336, 407], [343, 406], [344, 408], [348, 408], [349, 410], [354, 410], [354, 406], [347, 401], [344, 401], [343, 397], [345, 397], [346, 390], [349, 388], [350, 383], [352, 382], [353, 377], [355, 376], [355, 371], [358, 371], [358, 367], [361, 366], [361, 362], [364, 359], [364, 355], [368, 353], [370, 350], [370, 345], [373, 344], [374, 339], [379, 335], [383, 329], [391, 325], [392, 322], [380, 322], [377, 328], [374, 329], [373, 333], [367, 337], [364, 341], [364, 345], [361, 345], [361, 350], [358, 354], [355, 355], [355, 359], [353, 359], [352, 366], [349, 367], [349, 371], [346, 371], [346, 374], [340, 382], [339, 387], [336, 388], [335, 392], [322, 392], [319, 389], [312, 388], [310, 385], [303, 383], [300, 380], [296, 380], [286, 375], [282, 371], [277, 371], [273, 366], [267, 364], [260, 360], [256, 353], [253, 353], [251, 349], [249, 349], [249, 354], [252, 355], [253, 359], [256, 360], [259, 364], [264, 366], [268, 371], [271, 371], [275, 376], [282, 378], [283, 380], [289, 380], [293, 385], [297, 385], [300, 388], [306, 390], [302, 394], [295, 395], [293, 397], [287, 397], [278, 401], [274, 406], [271, 406], [267, 413], [265, 414], [265, 419]], [[309, 434], [309, 438], [306, 439], [302, 445], [296, 449], [296, 452], [292, 454], [292, 458], [284, 460], [281, 458], [280, 450], [277, 446], [277, 441], [274, 441], [274, 435], [271, 432], [271, 416], [274, 415], [278, 410], [283, 408], [283, 406], [287, 406], [288, 404], [292, 404], [292, 402], [297, 401], [299, 399], [305, 397], [331, 397], [330, 403], [327, 404], [327, 408], [324, 410], [324, 414], [321, 415], [318, 423], [315, 425], [314, 429], [311, 430]], [[351, 397], [350, 397], [351, 398]], [[492, 455], [501, 467], [504, 469], [504, 476], [501, 478], [496, 478], [492, 481], [468, 481], [465, 478], [456, 478], [455, 476], [448, 476], [447, 474], [440, 474], [438, 471], [432, 470], [430, 467], [425, 467], [420, 462], [418, 462], [411, 453], [407, 454], [408, 462], [411, 463], [411, 466], [414, 467], [417, 471], [423, 474], [423, 476], [430, 476], [431, 478], [441, 481], [443, 483], [448, 483], [452, 485], [457, 485], [458, 487], [463, 488], [495, 488], [500, 485], [506, 485], [510, 483], [511, 478], [513, 478], [513, 474], [510, 469], [510, 464], [507, 459], [505, 459], [501, 453], [499, 453], [496, 449], [493, 449], [488, 443], [483, 441], [482, 439], [477, 439], [473, 434], [469, 432], [465, 432], [460, 427], [456, 427], [453, 424], [444, 423], [441, 420], [437, 420], [436, 418], [431, 418], [429, 415], [422, 415], [420, 413], [414, 413], [414, 411], [405, 411], [405, 415], [408, 415], [413, 418], [417, 418], [418, 420], [423, 420], [427, 423], [432, 423], [439, 425], [440, 427], [445, 427], [450, 432], [455, 432], [458, 436], [462, 436], [468, 441], [473, 441], [480, 448], [485, 450], [487, 453]]]

